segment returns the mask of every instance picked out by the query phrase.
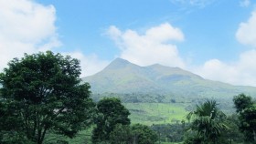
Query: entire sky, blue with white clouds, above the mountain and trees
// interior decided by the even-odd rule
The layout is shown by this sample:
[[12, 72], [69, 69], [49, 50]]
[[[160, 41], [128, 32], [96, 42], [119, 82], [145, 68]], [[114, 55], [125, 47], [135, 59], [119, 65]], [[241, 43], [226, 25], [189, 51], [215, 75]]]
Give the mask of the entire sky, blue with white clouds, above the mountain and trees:
[[0, 71], [47, 50], [80, 59], [81, 77], [121, 57], [256, 87], [256, 1], [0, 0]]

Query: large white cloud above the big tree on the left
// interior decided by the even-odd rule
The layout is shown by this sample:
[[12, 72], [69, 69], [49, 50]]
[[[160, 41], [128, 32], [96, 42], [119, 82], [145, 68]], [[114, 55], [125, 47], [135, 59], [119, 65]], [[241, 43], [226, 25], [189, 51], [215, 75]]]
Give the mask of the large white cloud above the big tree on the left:
[[52, 5], [0, 0], [0, 70], [14, 57], [59, 46], [55, 20]]

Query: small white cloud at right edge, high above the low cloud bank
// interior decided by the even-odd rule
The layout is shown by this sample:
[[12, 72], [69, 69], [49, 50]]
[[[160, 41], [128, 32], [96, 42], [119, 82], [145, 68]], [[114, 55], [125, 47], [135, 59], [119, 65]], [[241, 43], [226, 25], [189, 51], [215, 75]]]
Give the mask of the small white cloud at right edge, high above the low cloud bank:
[[247, 22], [240, 23], [236, 37], [241, 44], [256, 47], [256, 11], [251, 13]]

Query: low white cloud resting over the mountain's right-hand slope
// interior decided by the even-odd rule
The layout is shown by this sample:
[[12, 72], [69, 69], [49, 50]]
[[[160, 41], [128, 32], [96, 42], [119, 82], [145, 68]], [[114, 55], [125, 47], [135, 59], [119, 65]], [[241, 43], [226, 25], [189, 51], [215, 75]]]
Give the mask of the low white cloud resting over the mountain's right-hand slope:
[[198, 75], [233, 85], [256, 86], [256, 50], [240, 54], [237, 62], [226, 64], [218, 59], [208, 60], [202, 67], [193, 69]]

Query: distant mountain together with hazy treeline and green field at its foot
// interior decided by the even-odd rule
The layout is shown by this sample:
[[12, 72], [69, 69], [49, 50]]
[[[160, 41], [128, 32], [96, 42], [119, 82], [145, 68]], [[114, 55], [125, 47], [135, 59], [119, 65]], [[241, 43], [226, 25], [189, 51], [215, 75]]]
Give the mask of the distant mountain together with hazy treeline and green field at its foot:
[[147, 125], [185, 119], [187, 111], [207, 98], [233, 113], [232, 98], [240, 93], [256, 96], [256, 87], [239, 87], [199, 77], [178, 67], [158, 64], [140, 67], [117, 58], [101, 72], [83, 77], [91, 85], [92, 98], [121, 98], [133, 123]]

